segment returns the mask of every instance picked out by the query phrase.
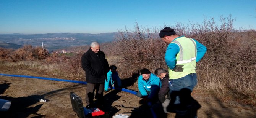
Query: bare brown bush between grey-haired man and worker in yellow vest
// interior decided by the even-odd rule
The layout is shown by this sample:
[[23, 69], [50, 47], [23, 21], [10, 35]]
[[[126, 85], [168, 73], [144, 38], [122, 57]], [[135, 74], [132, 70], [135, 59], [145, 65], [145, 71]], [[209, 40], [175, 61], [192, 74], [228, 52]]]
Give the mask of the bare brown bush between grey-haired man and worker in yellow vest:
[[156, 67], [165, 67], [165, 48], [166, 44], [158, 38], [158, 30], [142, 28], [136, 23], [135, 31], [119, 30], [110, 49], [123, 59], [126, 73], [132, 73], [142, 68], [153, 72]]

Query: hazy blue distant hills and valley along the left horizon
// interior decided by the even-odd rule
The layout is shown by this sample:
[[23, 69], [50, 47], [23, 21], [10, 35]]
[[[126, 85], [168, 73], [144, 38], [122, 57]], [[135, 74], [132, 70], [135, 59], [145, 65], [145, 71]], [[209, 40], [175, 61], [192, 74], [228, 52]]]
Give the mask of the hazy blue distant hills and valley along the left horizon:
[[89, 45], [92, 41], [111, 42], [117, 33], [47, 33], [47, 34], [0, 34], [0, 41], [18, 45], [42, 46], [59, 49], [69, 46]]

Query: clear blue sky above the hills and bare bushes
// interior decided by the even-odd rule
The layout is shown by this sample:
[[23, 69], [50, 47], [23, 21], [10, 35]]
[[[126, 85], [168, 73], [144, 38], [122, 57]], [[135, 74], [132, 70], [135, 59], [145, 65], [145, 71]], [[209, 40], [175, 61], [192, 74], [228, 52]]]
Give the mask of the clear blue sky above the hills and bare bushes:
[[0, 33], [106, 33], [232, 15], [256, 29], [256, 0], [0, 0]]

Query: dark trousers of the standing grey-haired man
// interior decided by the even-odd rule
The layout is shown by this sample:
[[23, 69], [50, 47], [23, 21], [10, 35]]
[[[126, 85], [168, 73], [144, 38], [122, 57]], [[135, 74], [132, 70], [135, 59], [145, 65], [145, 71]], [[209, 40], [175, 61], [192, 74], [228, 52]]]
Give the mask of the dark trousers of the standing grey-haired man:
[[[96, 90], [96, 94], [95, 94]], [[91, 84], [87, 83], [86, 96], [85, 101], [87, 105], [95, 105], [94, 97], [97, 100], [98, 104], [103, 104], [103, 91], [104, 91], [104, 83]]]

